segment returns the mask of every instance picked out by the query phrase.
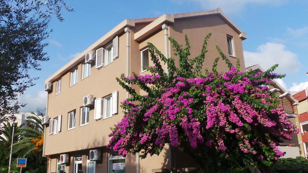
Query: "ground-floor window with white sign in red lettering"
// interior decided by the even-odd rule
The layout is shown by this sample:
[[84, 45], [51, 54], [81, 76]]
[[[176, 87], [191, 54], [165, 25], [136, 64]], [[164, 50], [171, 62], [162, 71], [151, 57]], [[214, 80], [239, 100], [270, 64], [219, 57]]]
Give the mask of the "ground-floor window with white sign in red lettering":
[[125, 158], [114, 151], [109, 153], [109, 173], [125, 173]]

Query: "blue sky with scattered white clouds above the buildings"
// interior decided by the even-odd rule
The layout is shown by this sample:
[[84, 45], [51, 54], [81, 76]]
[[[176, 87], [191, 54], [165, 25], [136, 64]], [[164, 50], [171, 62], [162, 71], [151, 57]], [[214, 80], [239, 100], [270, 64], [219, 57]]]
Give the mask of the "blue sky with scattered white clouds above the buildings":
[[106, 34], [124, 19], [159, 17], [164, 13], [221, 10], [247, 34], [242, 42], [245, 66], [260, 64], [267, 70], [278, 63], [277, 80], [287, 91], [301, 91], [308, 86], [308, 1], [302, 0], [155, 0], [155, 1], [81, 1], [65, 0], [74, 12], [62, 9], [64, 22], [52, 16], [45, 51], [50, 56], [36, 85], [19, 96], [27, 103], [22, 111], [45, 113], [47, 92], [44, 81], [72, 58]]

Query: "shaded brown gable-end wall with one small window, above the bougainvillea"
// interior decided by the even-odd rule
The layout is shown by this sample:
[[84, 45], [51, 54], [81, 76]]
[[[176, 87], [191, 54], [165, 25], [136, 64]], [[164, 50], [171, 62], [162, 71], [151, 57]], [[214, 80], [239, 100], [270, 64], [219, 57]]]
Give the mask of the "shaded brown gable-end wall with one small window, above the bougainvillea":
[[[242, 39], [238, 33], [233, 30], [221, 17], [217, 15], [208, 15], [203, 17], [175, 19], [174, 23], [169, 25], [170, 37], [185, 47], [185, 34], [187, 34], [190, 43], [190, 58], [194, 58], [201, 53], [204, 38], [207, 34], [212, 33], [209, 39], [207, 50], [205, 54], [205, 63], [203, 64], [203, 72], [205, 68], [212, 70], [215, 58], [221, 57], [216, 49], [218, 45], [221, 50], [227, 55], [233, 65], [236, 65], [237, 58], [240, 59], [241, 71], [245, 71], [244, 55], [242, 48]], [[234, 56], [228, 55], [227, 34], [233, 36], [233, 50]], [[172, 45], [171, 45], [172, 46]], [[170, 46], [170, 47], [171, 47]], [[171, 47], [171, 57], [175, 57], [173, 48]], [[176, 63], [178, 65], [178, 63]], [[228, 70], [225, 61], [220, 58], [217, 65], [218, 71]]]

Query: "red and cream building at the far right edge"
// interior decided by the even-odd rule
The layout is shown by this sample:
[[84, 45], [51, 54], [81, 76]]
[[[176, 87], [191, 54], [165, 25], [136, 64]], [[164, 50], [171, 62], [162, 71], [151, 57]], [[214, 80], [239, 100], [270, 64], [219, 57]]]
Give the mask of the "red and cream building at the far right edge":
[[300, 136], [302, 138], [304, 149], [303, 157], [308, 157], [308, 87], [305, 90], [299, 91], [292, 96], [299, 102], [297, 106], [299, 123], [298, 127], [301, 129]]

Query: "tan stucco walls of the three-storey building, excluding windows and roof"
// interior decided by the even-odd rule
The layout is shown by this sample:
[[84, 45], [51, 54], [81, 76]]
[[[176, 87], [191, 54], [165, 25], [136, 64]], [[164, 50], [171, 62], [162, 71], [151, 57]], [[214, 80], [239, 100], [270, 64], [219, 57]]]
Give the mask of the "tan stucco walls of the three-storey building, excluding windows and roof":
[[[147, 47], [147, 42], [153, 43], [158, 50], [163, 54], [165, 53], [164, 45], [164, 31], [157, 30], [147, 38], [144, 38], [140, 42], [134, 40], [134, 33], [146, 26], [148, 23], [136, 24], [131, 28], [130, 32], [130, 74], [135, 72], [136, 74], [147, 74], [148, 72], [141, 72], [141, 50]], [[192, 20], [189, 19], [176, 19], [174, 24], [169, 26], [169, 35], [175, 38], [180, 44], [184, 44], [184, 34], [188, 35], [191, 43], [191, 57], [195, 57], [201, 52], [203, 38], [212, 32], [208, 45], [208, 54], [206, 54], [204, 69], [212, 69], [214, 59], [219, 56], [215, 45], [219, 45], [221, 49], [227, 53], [227, 34], [233, 36], [233, 45], [235, 50], [235, 56], [241, 61], [241, 70], [245, 70], [243, 50], [241, 38], [238, 34], [223, 21], [217, 15], [211, 15], [207, 17], [196, 17]], [[201, 35], [201, 36], [200, 36]], [[116, 124], [123, 117], [122, 110], [120, 108], [120, 102], [126, 99], [126, 91], [116, 82], [115, 78], [120, 77], [121, 74], [126, 73], [126, 33], [122, 33], [119, 36], [119, 58], [104, 66], [100, 69], [95, 68], [95, 64], [91, 67], [91, 75], [82, 79], [82, 64], [76, 66], [78, 68], [78, 82], [70, 86], [70, 72], [65, 73], [62, 76], [62, 91], [60, 94], [55, 95], [56, 82], [53, 81], [53, 91], [49, 93], [48, 113], [50, 118], [56, 118], [58, 115], [62, 115], [61, 132], [55, 135], [46, 135], [45, 143], [45, 155], [51, 156], [51, 172], [57, 171], [57, 158], [60, 154], [69, 154], [71, 163], [66, 165], [66, 172], [73, 172], [74, 156], [82, 155], [82, 167], [83, 172], [86, 172], [87, 155], [89, 155], [90, 149], [100, 149], [102, 152], [102, 161], [96, 163], [96, 172], [107, 172], [109, 161], [109, 150], [105, 147], [109, 142], [108, 135], [111, 133], [110, 127]], [[111, 40], [110, 40], [111, 41]], [[173, 48], [169, 46], [169, 52], [172, 58]], [[231, 62], [236, 64], [236, 58], [229, 56]], [[153, 65], [151, 61], [150, 66]], [[165, 69], [163, 63], [162, 67]], [[72, 68], [73, 70], [74, 68]], [[226, 71], [227, 65], [225, 62], [220, 61], [218, 63], [219, 71]], [[82, 80], [81, 80], [82, 79]], [[137, 86], [132, 86], [140, 95], [146, 94], [144, 91], [140, 91]], [[83, 97], [86, 95], [94, 95], [94, 99], [105, 97], [110, 95], [113, 91], [119, 91], [119, 110], [117, 115], [113, 115], [107, 119], [94, 120], [94, 108], [90, 108], [89, 124], [80, 126], [81, 108], [83, 107]], [[68, 113], [75, 111], [76, 115], [76, 127], [75, 129], [68, 129]], [[49, 127], [46, 131], [48, 132]], [[136, 159], [140, 163], [140, 172], [152, 172], [152, 169], [157, 168], [170, 168], [171, 160], [177, 160], [178, 167], [191, 167], [194, 166], [191, 159], [188, 161], [181, 161], [183, 158], [189, 158], [183, 153], [171, 154], [168, 144], [164, 146], [164, 150], [159, 156], [148, 156], [146, 159], [136, 158], [136, 155], [129, 154], [126, 159], [127, 172], [136, 172]]]

